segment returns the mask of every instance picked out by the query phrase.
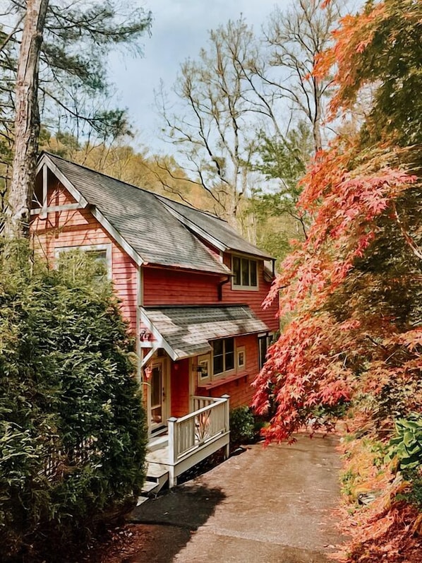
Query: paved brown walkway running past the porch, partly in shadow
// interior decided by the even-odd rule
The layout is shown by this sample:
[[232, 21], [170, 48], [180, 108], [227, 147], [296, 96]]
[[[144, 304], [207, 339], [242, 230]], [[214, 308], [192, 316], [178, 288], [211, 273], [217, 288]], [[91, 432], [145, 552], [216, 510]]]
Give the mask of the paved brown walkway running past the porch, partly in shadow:
[[139, 506], [145, 527], [131, 563], [322, 563], [341, 538], [335, 437], [248, 446], [238, 456]]

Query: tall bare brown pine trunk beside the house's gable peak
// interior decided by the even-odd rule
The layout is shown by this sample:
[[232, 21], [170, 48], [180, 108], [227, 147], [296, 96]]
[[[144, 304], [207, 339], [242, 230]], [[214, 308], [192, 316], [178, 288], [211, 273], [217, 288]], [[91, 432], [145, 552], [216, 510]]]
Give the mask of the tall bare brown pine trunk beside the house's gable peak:
[[38, 65], [49, 0], [27, 0], [16, 78], [15, 150], [6, 208], [6, 237], [28, 236], [40, 114]]

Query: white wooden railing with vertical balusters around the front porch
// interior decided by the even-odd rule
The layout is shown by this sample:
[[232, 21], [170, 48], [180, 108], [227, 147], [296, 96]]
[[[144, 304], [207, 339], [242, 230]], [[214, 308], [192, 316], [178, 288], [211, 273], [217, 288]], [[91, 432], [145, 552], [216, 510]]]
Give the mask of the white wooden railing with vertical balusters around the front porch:
[[217, 449], [225, 446], [229, 455], [229, 396], [195, 396], [193, 406], [193, 413], [168, 420], [170, 487], [174, 486], [182, 470], [192, 467]]

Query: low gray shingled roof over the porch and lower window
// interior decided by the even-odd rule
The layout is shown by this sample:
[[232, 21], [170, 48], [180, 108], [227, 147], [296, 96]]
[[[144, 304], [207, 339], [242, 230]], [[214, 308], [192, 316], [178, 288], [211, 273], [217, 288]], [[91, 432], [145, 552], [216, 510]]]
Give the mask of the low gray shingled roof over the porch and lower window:
[[174, 360], [210, 352], [209, 340], [269, 330], [248, 305], [145, 307], [144, 312]]

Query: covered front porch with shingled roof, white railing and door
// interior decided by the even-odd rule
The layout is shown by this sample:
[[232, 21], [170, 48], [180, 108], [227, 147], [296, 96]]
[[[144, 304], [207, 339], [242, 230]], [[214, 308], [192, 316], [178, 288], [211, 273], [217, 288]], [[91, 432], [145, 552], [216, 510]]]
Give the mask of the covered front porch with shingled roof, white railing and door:
[[[147, 486], [157, 492], [167, 482], [174, 487], [182, 473], [216, 451], [228, 456], [231, 391], [218, 389], [232, 382], [239, 393], [248, 386], [245, 338], [253, 340], [248, 357], [255, 373], [256, 334], [268, 329], [247, 305], [141, 307], [140, 327], [150, 432]], [[227, 337], [231, 369], [212, 380], [212, 341]]]

